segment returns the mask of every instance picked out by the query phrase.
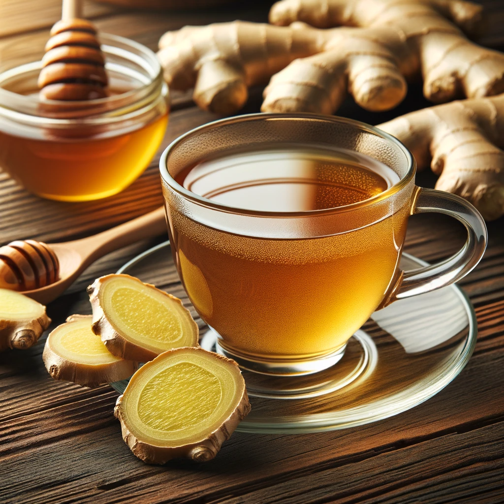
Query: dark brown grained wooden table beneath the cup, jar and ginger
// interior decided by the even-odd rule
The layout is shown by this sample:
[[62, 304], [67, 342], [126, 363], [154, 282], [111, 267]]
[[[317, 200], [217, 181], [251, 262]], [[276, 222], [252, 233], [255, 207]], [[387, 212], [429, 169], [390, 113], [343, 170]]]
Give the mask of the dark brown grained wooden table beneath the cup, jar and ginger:
[[[484, 42], [503, 43], [502, 2], [487, 2], [494, 28]], [[251, 5], [251, 7], [247, 7]], [[167, 29], [235, 18], [265, 21], [268, 5], [194, 13], [132, 13], [86, 4], [98, 28], [155, 48]], [[0, 56], [13, 42], [42, 44], [59, 0], [3, 0]], [[257, 110], [260, 90], [248, 111]], [[418, 86], [394, 112], [371, 114], [345, 103], [341, 115], [380, 123], [427, 105]], [[214, 117], [177, 95], [161, 150]], [[37, 199], [0, 172], [0, 244], [34, 237], [62, 241], [93, 234], [161, 204], [158, 158], [128, 190], [91, 203]], [[432, 186], [430, 173], [417, 177]], [[294, 504], [324, 502], [504, 502], [504, 219], [488, 226], [481, 264], [461, 282], [474, 303], [478, 343], [467, 367], [446, 389], [416, 408], [362, 427], [304, 435], [235, 433], [207, 464], [148, 466], [122, 442], [112, 410], [117, 394], [53, 381], [42, 363], [45, 337], [27, 351], [0, 355], [0, 502]], [[160, 238], [162, 239], [162, 238]], [[438, 215], [411, 219], [406, 250], [424, 260], [452, 254], [461, 226]], [[98, 275], [145, 249], [142, 242], [98, 261], [48, 306], [54, 327], [71, 313], [90, 313], [83, 289]]]

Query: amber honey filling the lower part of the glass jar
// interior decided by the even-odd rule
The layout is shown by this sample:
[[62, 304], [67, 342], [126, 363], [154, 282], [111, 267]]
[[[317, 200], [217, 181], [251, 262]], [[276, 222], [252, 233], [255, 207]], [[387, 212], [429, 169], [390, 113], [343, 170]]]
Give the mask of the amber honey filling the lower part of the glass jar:
[[39, 140], [0, 132], [0, 167], [43, 198], [105, 198], [145, 170], [161, 144], [166, 122], [164, 114], [134, 132], [102, 139]]

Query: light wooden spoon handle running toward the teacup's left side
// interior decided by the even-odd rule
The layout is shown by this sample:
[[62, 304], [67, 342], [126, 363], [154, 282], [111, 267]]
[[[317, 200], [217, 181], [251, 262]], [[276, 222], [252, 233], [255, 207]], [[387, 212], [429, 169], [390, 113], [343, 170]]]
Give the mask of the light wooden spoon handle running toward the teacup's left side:
[[[100, 257], [146, 238], [154, 238], [167, 233], [164, 207], [137, 217], [124, 224], [107, 229], [94, 236], [71, 242], [79, 251], [83, 264], [89, 265]], [[70, 245], [70, 243], [68, 243]]]

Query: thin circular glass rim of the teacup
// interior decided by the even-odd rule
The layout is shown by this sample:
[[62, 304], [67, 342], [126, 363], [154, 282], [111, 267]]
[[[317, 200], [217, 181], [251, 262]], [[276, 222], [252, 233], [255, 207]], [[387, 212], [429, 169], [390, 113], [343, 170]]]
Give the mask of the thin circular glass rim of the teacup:
[[[391, 185], [385, 191], [371, 198], [367, 198], [362, 201], [358, 201], [356, 203], [351, 203], [349, 205], [344, 205], [341, 207], [333, 207], [333, 208], [324, 208], [320, 210], [303, 210], [299, 212], [278, 212], [278, 211], [259, 211], [259, 210], [247, 210], [239, 207], [234, 207], [231, 205], [224, 205], [222, 203], [216, 203], [215, 201], [204, 198], [203, 196], [199, 196], [192, 191], [188, 191], [185, 187], [180, 185], [168, 172], [168, 168], [166, 166], [166, 161], [168, 158], [168, 154], [181, 142], [183, 142], [188, 137], [192, 137], [198, 135], [202, 131], [210, 130], [213, 128], [218, 128], [223, 124], [230, 124], [234, 122], [243, 122], [248, 120], [256, 120], [256, 119], [268, 119], [268, 118], [284, 118], [284, 119], [316, 119], [316, 120], [324, 120], [328, 122], [338, 122], [338, 123], [346, 123], [351, 124], [360, 128], [363, 131], [368, 133], [372, 133], [374, 135], [380, 136], [382, 138], [387, 139], [389, 142], [399, 146], [399, 148], [403, 151], [406, 156], [406, 160], [408, 163], [408, 167], [406, 169], [405, 174], [399, 179], [398, 182]], [[394, 194], [397, 194], [403, 187], [408, 185], [408, 183], [414, 178], [416, 172], [416, 161], [409, 149], [407, 149], [404, 144], [399, 141], [396, 137], [390, 135], [389, 133], [380, 130], [370, 124], [366, 124], [365, 122], [357, 121], [355, 119], [349, 119], [347, 117], [341, 117], [337, 115], [324, 115], [324, 114], [314, 114], [308, 112], [295, 112], [295, 113], [277, 113], [277, 112], [259, 112], [253, 114], [242, 114], [235, 115], [232, 117], [226, 117], [223, 119], [217, 119], [211, 122], [207, 122], [197, 128], [194, 128], [183, 135], [180, 135], [178, 138], [173, 140], [168, 147], [161, 154], [161, 158], [159, 159], [159, 171], [161, 173], [161, 178], [164, 182], [166, 182], [175, 192], [179, 193], [185, 199], [190, 200], [198, 205], [213, 208], [215, 210], [219, 210], [221, 212], [233, 213], [239, 215], [251, 215], [256, 217], [306, 217], [313, 215], [327, 215], [327, 214], [335, 214], [348, 212], [352, 210], [361, 209], [364, 207], [369, 207], [371, 205], [375, 205], [379, 202], [387, 200]]]

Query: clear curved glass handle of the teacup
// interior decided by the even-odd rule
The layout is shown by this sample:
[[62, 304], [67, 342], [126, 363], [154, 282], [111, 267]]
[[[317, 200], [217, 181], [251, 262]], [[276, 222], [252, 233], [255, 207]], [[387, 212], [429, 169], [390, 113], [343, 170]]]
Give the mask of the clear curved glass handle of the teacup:
[[437, 264], [401, 271], [395, 288], [382, 306], [396, 299], [416, 296], [445, 287], [466, 276], [481, 260], [486, 248], [487, 230], [481, 214], [466, 200], [444, 191], [417, 188], [411, 214], [438, 212], [464, 224], [467, 240], [452, 257]]

